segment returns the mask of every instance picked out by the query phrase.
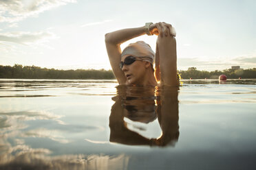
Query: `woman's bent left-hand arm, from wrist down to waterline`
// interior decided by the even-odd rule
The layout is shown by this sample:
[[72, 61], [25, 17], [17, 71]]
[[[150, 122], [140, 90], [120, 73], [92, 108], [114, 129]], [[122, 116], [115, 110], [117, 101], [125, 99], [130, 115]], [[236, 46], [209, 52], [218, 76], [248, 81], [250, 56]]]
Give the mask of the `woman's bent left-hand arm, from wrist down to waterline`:
[[107, 55], [109, 56], [112, 70], [114, 71], [114, 75], [116, 76], [119, 84], [125, 84], [127, 81], [124, 72], [119, 67], [122, 53], [120, 45], [122, 44], [122, 42], [130, 40], [131, 38], [135, 38], [137, 36], [142, 36], [144, 34], [146, 34], [145, 27], [121, 29], [116, 32], [110, 32], [105, 34]]

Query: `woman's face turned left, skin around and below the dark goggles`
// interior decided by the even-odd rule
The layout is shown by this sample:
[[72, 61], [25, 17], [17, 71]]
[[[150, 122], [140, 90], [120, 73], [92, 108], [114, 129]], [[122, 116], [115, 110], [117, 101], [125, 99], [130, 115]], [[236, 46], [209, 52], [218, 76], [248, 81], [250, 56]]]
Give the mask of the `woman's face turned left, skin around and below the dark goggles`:
[[[121, 61], [124, 62], [125, 58], [122, 57]], [[128, 84], [142, 85], [145, 80], [145, 73], [147, 71], [147, 62], [136, 60], [132, 64], [122, 66], [122, 71], [125, 73]]]

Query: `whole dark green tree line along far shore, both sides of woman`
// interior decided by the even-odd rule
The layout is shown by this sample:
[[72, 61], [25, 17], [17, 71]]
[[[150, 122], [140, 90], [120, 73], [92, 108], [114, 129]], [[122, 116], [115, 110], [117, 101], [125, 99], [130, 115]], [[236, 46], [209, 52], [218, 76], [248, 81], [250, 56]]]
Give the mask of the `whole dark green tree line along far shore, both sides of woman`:
[[[256, 79], [256, 69], [225, 69], [224, 71], [198, 71], [195, 67], [189, 67], [187, 71], [178, 71], [182, 79], [217, 79], [224, 74], [230, 79], [239, 77], [246, 79]], [[111, 70], [95, 70], [95, 69], [77, 69], [77, 70], [58, 70], [46, 69], [39, 66], [22, 66], [14, 64], [14, 66], [0, 65], [0, 78], [10, 79], [115, 79]]]

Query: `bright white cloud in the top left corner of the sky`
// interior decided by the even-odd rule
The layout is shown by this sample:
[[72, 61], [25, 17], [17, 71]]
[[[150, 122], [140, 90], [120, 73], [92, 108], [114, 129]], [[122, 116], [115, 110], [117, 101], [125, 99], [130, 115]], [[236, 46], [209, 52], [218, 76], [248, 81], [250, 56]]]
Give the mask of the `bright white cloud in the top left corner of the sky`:
[[0, 0], [0, 22], [13, 23], [76, 0]]

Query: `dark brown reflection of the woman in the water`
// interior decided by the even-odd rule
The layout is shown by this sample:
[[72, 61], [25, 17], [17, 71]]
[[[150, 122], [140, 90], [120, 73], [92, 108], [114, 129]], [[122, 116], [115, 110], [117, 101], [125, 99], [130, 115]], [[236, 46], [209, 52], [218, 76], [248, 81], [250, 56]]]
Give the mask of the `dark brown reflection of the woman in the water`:
[[[117, 86], [115, 104], [109, 117], [109, 141], [126, 145], [175, 145], [179, 138], [178, 88]], [[158, 119], [162, 134], [147, 138], [129, 130], [125, 117], [131, 121], [149, 123]]]

